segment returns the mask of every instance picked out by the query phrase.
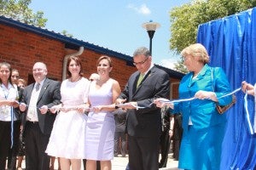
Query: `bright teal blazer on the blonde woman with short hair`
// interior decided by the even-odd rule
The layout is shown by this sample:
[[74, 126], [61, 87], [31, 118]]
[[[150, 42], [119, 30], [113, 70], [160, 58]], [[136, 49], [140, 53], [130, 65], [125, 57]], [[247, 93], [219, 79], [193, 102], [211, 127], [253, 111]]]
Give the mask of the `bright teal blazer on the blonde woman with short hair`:
[[[220, 67], [213, 68], [206, 64], [197, 77], [194, 79], [192, 77], [193, 72], [191, 71], [181, 80], [178, 89], [180, 99], [192, 98], [199, 90], [214, 91], [217, 98], [230, 93], [230, 83]], [[231, 100], [231, 96], [218, 99], [218, 105], [228, 105]], [[174, 109], [171, 112], [174, 114], [182, 113], [183, 130], [188, 129], [189, 116], [193, 127], [201, 129], [226, 122], [225, 114], [218, 114], [215, 105], [216, 102], [211, 99], [193, 99], [187, 102], [174, 103]]]

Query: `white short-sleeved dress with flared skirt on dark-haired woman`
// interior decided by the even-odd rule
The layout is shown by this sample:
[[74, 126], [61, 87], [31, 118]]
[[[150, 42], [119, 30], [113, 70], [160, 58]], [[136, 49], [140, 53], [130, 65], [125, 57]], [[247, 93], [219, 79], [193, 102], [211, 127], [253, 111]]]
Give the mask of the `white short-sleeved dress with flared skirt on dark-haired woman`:
[[[82, 77], [78, 82], [68, 79], [61, 83], [63, 107], [75, 107], [87, 103], [90, 83]], [[78, 111], [60, 112], [56, 116], [46, 153], [67, 159], [85, 158], [85, 127], [87, 116]]]

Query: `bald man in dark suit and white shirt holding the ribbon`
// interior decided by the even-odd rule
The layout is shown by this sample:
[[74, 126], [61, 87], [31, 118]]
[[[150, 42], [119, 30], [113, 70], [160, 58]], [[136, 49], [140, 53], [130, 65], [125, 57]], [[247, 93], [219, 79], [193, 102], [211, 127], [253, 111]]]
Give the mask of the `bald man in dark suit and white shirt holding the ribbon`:
[[46, 65], [33, 65], [35, 83], [27, 86], [22, 94], [20, 111], [25, 111], [23, 121], [26, 170], [48, 170], [49, 156], [45, 153], [55, 115], [48, 109], [61, 103], [61, 82], [49, 80]]

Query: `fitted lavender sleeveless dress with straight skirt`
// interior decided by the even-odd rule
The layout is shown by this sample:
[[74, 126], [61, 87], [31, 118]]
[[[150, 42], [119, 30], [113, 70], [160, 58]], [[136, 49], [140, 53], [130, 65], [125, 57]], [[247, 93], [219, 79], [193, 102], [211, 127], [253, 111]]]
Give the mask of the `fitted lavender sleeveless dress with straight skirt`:
[[[96, 89], [96, 82], [90, 85], [89, 100], [91, 107], [111, 105], [113, 79], [108, 79], [101, 88]], [[115, 122], [112, 111], [90, 112], [86, 124], [85, 152], [86, 159], [108, 161], [113, 159]]]

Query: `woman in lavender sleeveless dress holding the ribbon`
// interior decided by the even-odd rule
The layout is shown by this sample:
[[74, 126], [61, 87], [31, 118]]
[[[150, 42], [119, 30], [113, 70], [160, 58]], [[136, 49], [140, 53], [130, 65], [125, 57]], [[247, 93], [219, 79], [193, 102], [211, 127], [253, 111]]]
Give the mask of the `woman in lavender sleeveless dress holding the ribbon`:
[[89, 112], [85, 134], [86, 169], [96, 170], [96, 161], [101, 161], [102, 169], [111, 169], [113, 159], [115, 122], [113, 110], [115, 100], [119, 97], [119, 82], [109, 77], [112, 62], [108, 56], [97, 61], [97, 72], [100, 78], [91, 82]]

